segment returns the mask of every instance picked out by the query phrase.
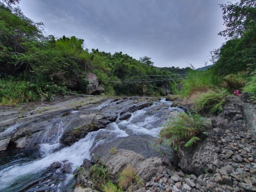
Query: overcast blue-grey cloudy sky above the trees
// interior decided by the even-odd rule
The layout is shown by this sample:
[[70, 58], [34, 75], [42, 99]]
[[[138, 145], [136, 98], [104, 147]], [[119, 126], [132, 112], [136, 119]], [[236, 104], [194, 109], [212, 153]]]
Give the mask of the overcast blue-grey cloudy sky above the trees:
[[48, 35], [84, 39], [88, 49], [151, 57], [157, 67], [202, 67], [224, 42], [226, 0], [20, 0]]

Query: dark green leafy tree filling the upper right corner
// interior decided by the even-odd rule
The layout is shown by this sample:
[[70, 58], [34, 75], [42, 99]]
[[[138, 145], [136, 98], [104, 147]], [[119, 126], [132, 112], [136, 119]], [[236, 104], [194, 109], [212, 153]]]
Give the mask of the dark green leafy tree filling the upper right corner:
[[226, 29], [219, 33], [227, 41], [216, 53], [218, 61], [213, 66], [218, 75], [256, 69], [256, 3], [255, 0], [239, 0], [222, 4]]

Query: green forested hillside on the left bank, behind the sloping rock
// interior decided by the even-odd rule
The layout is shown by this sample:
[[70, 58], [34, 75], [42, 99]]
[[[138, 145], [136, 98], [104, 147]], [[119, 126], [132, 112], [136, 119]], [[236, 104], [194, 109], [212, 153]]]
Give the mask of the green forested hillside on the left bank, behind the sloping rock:
[[96, 74], [106, 95], [165, 95], [164, 89], [172, 87], [172, 81], [165, 79], [175, 76], [159, 75], [189, 70], [154, 67], [147, 56], [138, 61], [122, 52], [89, 50], [75, 36], [44, 36], [42, 23], [33, 22], [13, 6], [18, 0], [0, 2], [2, 104], [51, 100], [65, 90], [86, 93], [88, 72]]

